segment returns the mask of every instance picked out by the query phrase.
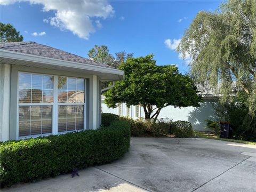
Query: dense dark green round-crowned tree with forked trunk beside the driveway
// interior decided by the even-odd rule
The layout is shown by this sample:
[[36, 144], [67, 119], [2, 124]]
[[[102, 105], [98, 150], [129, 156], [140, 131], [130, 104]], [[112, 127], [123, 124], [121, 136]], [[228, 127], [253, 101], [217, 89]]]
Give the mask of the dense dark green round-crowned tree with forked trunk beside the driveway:
[[108, 107], [120, 102], [141, 105], [146, 119], [156, 119], [164, 107], [197, 107], [201, 102], [191, 78], [174, 65], [157, 66], [153, 54], [129, 58], [119, 69], [124, 70], [125, 79], [105, 93]]

